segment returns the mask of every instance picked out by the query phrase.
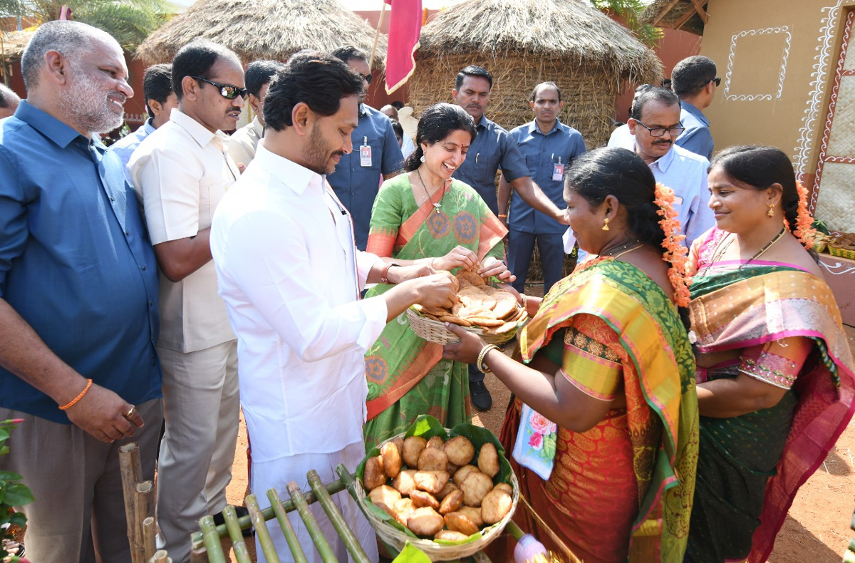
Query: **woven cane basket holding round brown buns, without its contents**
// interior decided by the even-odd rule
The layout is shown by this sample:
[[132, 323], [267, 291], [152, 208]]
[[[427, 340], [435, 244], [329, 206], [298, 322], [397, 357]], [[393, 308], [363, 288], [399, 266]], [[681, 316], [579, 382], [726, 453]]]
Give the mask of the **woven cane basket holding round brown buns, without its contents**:
[[[448, 429], [445, 429], [448, 432]], [[408, 433], [398, 434], [398, 436], [392, 436], [386, 442], [390, 442], [395, 438], [404, 438]], [[465, 436], [463, 434], [462, 436]], [[469, 436], [467, 436], [469, 437]], [[380, 443], [380, 447], [386, 442]], [[502, 453], [499, 452], [500, 458], [502, 457]], [[504, 460], [507, 463], [507, 460]], [[363, 513], [365, 517], [369, 520], [369, 523], [374, 528], [374, 531], [377, 532], [377, 536], [380, 536], [380, 539], [383, 542], [386, 542], [387, 545], [392, 548], [398, 549], [400, 551], [404, 548], [406, 542], [410, 542], [410, 545], [421, 549], [424, 554], [428, 555], [428, 558], [432, 561], [451, 561], [457, 560], [462, 557], [469, 557], [469, 555], [473, 555], [481, 551], [481, 549], [486, 548], [487, 545], [490, 544], [494, 539], [502, 534], [504, 530], [504, 526], [510, 522], [510, 519], [513, 517], [514, 512], [516, 512], [516, 505], [520, 501], [520, 484], [516, 480], [516, 475], [513, 471], [510, 471], [510, 476], [508, 478], [508, 484], [510, 484], [511, 488], [513, 488], [513, 493], [511, 493], [511, 499], [513, 499], [513, 504], [510, 507], [510, 512], [504, 515], [504, 518], [499, 520], [496, 524], [492, 524], [491, 526], [487, 526], [483, 530], [477, 533], [479, 536], [477, 539], [473, 540], [473, 536], [469, 536], [465, 540], [461, 540], [460, 542], [448, 542], [444, 540], [439, 540], [434, 542], [433, 540], [417, 538], [408, 535], [402, 530], [398, 530], [392, 524], [389, 524], [386, 520], [380, 518], [377, 514], [375, 514], [372, 510], [368, 509], [368, 507], [372, 507], [376, 510], [380, 510], [377, 507], [374, 507], [371, 504], [371, 501], [368, 500], [367, 495], [365, 494], [365, 488], [363, 487], [362, 479], [356, 479], [356, 494], [359, 502], [363, 504]]]

